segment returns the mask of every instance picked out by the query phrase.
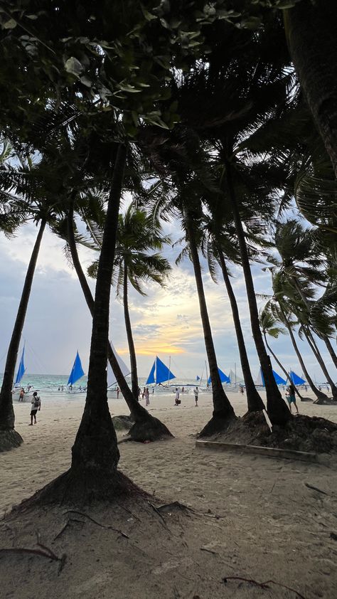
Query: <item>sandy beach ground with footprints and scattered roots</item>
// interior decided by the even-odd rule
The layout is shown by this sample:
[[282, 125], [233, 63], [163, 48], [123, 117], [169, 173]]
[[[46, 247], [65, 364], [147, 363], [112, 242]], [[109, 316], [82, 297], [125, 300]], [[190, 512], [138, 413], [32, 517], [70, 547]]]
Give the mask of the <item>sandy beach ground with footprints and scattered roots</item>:
[[[120, 443], [119, 468], [154, 502], [178, 501], [190, 509], [158, 512], [151, 502], [136, 502], [81, 514], [60, 507], [7, 515], [0, 523], [0, 550], [38, 548], [40, 542], [67, 557], [59, 571], [60, 564], [44, 556], [0, 551], [1, 598], [337, 597], [333, 460], [321, 465], [196, 449], [195, 435], [212, 412], [211, 396], [200, 394], [198, 408], [192, 393], [181, 396], [178, 407], [173, 398], [151, 396], [149, 409], [175, 438]], [[245, 397], [229, 398], [243, 415]], [[0, 454], [0, 515], [70, 465], [83, 398], [42, 401], [32, 427], [28, 403], [15, 405], [24, 443]], [[109, 405], [113, 415], [128, 413], [122, 399]], [[299, 403], [299, 410], [337, 422], [337, 406]], [[230, 576], [278, 584], [224, 583]]]

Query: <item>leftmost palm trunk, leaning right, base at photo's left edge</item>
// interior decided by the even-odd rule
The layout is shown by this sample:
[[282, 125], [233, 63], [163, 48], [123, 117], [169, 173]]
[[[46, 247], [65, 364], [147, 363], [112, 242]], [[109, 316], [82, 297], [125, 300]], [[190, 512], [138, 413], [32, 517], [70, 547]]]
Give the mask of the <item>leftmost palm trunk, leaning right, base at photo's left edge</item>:
[[38, 236], [36, 238], [33, 252], [31, 254], [31, 260], [29, 261], [26, 279], [21, 294], [21, 300], [18, 306], [18, 312], [16, 314], [16, 321], [14, 324], [14, 329], [11, 336], [11, 341], [9, 343], [9, 349], [7, 352], [4, 379], [2, 381], [0, 392], [0, 452], [4, 450], [9, 450], [12, 447], [18, 447], [18, 445], [21, 445], [22, 443], [21, 436], [16, 432], [16, 430], [14, 430], [15, 416], [11, 391], [13, 388], [16, 359], [18, 357], [18, 347], [20, 345], [20, 339], [23, 324], [26, 318], [28, 301], [31, 295], [31, 285], [33, 282], [33, 276], [38, 260], [38, 253], [40, 250], [41, 240], [45, 228], [46, 221], [41, 221]]

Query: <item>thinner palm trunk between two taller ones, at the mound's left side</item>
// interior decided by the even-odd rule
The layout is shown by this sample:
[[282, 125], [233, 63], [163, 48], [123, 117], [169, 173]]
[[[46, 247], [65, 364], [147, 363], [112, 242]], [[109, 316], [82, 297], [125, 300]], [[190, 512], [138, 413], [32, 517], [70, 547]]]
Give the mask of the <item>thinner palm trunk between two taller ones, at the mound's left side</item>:
[[255, 383], [252, 378], [252, 373], [250, 371], [250, 363], [248, 361], [245, 339], [243, 338], [242, 328], [240, 323], [240, 314], [237, 308], [237, 301], [235, 299], [234, 292], [232, 290], [232, 284], [230, 282], [230, 277], [228, 276], [228, 270], [225, 264], [225, 258], [223, 256], [223, 252], [220, 248], [218, 248], [218, 255], [220, 260], [220, 267], [223, 272], [223, 280], [225, 281], [226, 290], [228, 293], [228, 297], [230, 300], [230, 307], [232, 308], [232, 317], [235, 327], [235, 333], [237, 337], [237, 346], [239, 348], [240, 354], [240, 362], [242, 375], [245, 379], [245, 388], [247, 393], [247, 404], [248, 411], [255, 412], [259, 410], [264, 410], [264, 403], [260, 398], [259, 393], [257, 392], [257, 388], [255, 387]]

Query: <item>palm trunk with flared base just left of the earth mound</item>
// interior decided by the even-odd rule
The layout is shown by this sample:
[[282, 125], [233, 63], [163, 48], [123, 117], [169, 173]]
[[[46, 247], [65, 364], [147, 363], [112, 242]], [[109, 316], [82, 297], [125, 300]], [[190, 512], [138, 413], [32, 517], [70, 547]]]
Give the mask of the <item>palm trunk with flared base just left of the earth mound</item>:
[[198, 249], [196, 246], [196, 240], [193, 232], [193, 222], [190, 216], [186, 218], [186, 230], [188, 234], [188, 241], [191, 249], [191, 258], [193, 263], [194, 276], [196, 278], [196, 287], [198, 291], [198, 300], [200, 306], [200, 317], [203, 324], [203, 334], [205, 338], [206, 354], [208, 358], [208, 366], [210, 369], [210, 381], [212, 383], [213, 393], [213, 417], [203, 428], [200, 436], [211, 435], [217, 430], [224, 430], [228, 427], [228, 424], [234, 420], [235, 413], [230, 404], [228, 397], [223, 390], [223, 385], [220, 381], [218, 372], [218, 364], [215, 356], [215, 349], [213, 345], [212, 332], [210, 330], [210, 321], [208, 318], [208, 311], [205, 300], [205, 292], [203, 290], [203, 278], [201, 276], [200, 261], [198, 256]]

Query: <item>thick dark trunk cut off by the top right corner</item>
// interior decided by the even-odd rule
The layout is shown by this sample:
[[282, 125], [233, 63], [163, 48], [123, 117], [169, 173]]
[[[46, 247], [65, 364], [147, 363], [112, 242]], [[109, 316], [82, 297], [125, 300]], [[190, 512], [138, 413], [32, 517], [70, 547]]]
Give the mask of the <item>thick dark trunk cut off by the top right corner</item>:
[[337, 177], [336, 0], [302, 0], [283, 12], [291, 58]]

